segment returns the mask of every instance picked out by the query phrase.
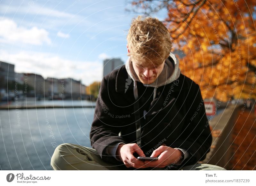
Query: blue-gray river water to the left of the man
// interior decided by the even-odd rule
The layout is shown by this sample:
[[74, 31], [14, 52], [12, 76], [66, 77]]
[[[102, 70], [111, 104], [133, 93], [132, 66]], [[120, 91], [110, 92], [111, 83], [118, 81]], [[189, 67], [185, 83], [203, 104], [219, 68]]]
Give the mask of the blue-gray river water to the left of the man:
[[[27, 105], [33, 102], [27, 101]], [[51, 104], [52, 101], [46, 105]], [[95, 105], [78, 100], [56, 100], [53, 104]], [[36, 105], [44, 105], [44, 101], [36, 101]], [[93, 113], [94, 108], [1, 110], [1, 170], [52, 170], [51, 157], [59, 144], [75, 143], [91, 147], [89, 133]]]

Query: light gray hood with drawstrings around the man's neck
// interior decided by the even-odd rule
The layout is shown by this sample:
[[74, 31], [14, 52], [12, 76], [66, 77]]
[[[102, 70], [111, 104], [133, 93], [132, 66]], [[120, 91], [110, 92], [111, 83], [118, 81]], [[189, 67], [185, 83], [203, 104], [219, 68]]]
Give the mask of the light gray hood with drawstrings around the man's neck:
[[[173, 59], [173, 62], [170, 60]], [[133, 86], [133, 93], [135, 99], [138, 98], [138, 89], [137, 89], [137, 81], [140, 82], [137, 74], [135, 73], [131, 58], [129, 57], [125, 63], [125, 68], [129, 76], [132, 78], [134, 86]], [[153, 99], [156, 97], [156, 89], [163, 85], [169, 84], [180, 77], [180, 68], [179, 68], [179, 60], [175, 57], [173, 53], [170, 53], [169, 57], [165, 59], [164, 69], [161, 74], [156, 78], [156, 80], [151, 84], [143, 84], [146, 87], [154, 87], [154, 96]]]

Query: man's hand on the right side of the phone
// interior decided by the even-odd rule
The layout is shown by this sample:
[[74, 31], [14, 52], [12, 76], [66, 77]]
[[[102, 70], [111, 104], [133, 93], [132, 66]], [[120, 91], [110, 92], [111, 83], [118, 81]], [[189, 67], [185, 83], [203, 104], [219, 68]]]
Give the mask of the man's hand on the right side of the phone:
[[181, 160], [183, 152], [179, 149], [173, 149], [172, 147], [167, 147], [161, 145], [155, 151], [152, 152], [150, 157], [158, 157], [156, 161], [144, 161], [144, 163], [149, 167], [164, 168], [170, 164], [178, 163]]

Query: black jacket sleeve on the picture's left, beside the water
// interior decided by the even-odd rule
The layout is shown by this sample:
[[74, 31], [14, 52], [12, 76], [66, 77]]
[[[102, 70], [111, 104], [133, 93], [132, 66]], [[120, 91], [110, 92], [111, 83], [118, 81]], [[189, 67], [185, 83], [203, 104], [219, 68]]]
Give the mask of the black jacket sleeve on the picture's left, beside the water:
[[107, 147], [114, 146], [116, 143], [127, 144], [123, 137], [118, 135], [121, 131], [121, 126], [118, 125], [119, 122], [113, 117], [118, 112], [118, 106], [115, 104], [115, 94], [115, 83], [111, 83], [111, 80], [108, 82], [104, 77], [96, 100], [90, 131], [92, 148], [98, 151], [101, 159], [109, 162], [116, 159], [107, 153]]

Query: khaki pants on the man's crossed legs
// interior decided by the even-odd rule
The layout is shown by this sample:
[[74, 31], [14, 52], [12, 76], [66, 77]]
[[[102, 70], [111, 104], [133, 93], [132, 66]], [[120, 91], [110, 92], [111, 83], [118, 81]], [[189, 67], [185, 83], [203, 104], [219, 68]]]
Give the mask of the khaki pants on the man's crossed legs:
[[172, 167], [127, 168], [122, 162], [116, 161], [116, 164], [111, 164], [103, 161], [95, 149], [72, 143], [63, 143], [56, 147], [52, 155], [51, 167], [53, 170], [226, 170], [210, 164], [196, 164], [180, 169]]

